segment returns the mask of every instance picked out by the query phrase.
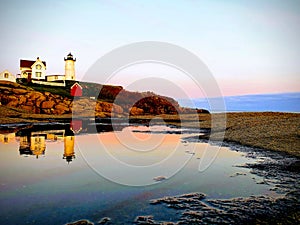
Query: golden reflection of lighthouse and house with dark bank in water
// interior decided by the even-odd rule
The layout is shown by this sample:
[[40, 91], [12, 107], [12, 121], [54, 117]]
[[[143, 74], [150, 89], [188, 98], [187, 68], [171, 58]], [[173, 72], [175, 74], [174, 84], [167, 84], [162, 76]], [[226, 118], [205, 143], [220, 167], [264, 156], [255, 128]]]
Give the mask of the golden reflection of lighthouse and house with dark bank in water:
[[20, 155], [33, 156], [39, 159], [46, 154], [47, 145], [51, 142], [63, 142], [64, 150], [61, 158], [70, 163], [75, 159], [74, 134], [121, 131], [128, 126], [122, 120], [114, 121], [116, 123], [114, 126], [107, 119], [98, 119], [96, 122], [93, 124], [77, 119], [71, 121], [70, 124], [26, 125], [18, 129], [0, 130], [0, 143], [7, 144], [13, 140], [18, 140]]

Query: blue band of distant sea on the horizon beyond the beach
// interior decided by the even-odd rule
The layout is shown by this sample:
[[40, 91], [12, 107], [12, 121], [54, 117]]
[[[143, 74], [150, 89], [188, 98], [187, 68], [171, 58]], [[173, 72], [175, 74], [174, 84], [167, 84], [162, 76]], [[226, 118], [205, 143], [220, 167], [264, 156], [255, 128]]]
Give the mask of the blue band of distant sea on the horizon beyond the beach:
[[[212, 111], [206, 98], [177, 100], [184, 107], [196, 107]], [[224, 102], [226, 112], [300, 112], [300, 92], [226, 96]]]

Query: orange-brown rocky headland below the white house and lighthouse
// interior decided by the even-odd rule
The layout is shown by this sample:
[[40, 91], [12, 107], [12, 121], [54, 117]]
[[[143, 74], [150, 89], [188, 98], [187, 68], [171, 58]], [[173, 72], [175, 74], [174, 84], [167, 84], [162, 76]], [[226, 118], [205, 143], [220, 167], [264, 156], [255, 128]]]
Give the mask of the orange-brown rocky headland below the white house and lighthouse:
[[[52, 89], [49, 88], [37, 91], [30, 86], [1, 81], [0, 105], [23, 114], [31, 114], [33, 118], [46, 118], [46, 115], [58, 116], [57, 118], [59, 118], [70, 114], [106, 118], [145, 114], [197, 113], [195, 109], [180, 107], [177, 101], [169, 97], [151, 92], [139, 93], [129, 92], [122, 88], [117, 91], [115, 89], [114, 86], [102, 88], [97, 98], [88, 95], [72, 97], [51, 93], [49, 90]], [[95, 92], [99, 92], [96, 90]], [[199, 112], [208, 113], [205, 110]], [[12, 116], [10, 115], [10, 117]]]

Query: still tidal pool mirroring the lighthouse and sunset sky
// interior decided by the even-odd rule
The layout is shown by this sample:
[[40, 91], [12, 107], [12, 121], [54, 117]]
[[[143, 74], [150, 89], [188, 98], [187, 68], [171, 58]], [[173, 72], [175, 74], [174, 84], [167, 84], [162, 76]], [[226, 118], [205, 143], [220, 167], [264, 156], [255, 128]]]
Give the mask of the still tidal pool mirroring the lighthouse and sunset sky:
[[178, 212], [149, 201], [190, 192], [209, 199], [273, 194], [249, 169], [235, 167], [257, 159], [183, 139], [197, 134], [167, 126], [99, 133], [65, 126], [2, 131], [0, 224], [103, 217], [131, 224], [139, 215], [176, 221]]

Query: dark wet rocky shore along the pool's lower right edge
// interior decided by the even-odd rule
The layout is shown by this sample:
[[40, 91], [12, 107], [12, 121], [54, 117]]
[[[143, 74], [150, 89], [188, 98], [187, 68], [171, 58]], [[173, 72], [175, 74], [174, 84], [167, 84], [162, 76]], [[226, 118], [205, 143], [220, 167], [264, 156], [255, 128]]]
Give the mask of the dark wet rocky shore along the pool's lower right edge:
[[[278, 196], [249, 196], [230, 199], [212, 199], [205, 193], [185, 193], [150, 200], [156, 207], [162, 205], [176, 210], [178, 221], [156, 220], [155, 215], [139, 215], [130, 224], [187, 225], [187, 224], [298, 224], [300, 222], [300, 174], [291, 165], [299, 160], [278, 152], [228, 145], [234, 151], [246, 153], [257, 159], [255, 163], [235, 165], [248, 168], [261, 180], [257, 184], [269, 185]], [[67, 225], [114, 224], [114, 219], [104, 217], [99, 222], [79, 220]], [[108, 218], [108, 219], [107, 219]]]

